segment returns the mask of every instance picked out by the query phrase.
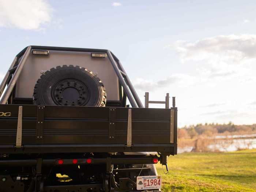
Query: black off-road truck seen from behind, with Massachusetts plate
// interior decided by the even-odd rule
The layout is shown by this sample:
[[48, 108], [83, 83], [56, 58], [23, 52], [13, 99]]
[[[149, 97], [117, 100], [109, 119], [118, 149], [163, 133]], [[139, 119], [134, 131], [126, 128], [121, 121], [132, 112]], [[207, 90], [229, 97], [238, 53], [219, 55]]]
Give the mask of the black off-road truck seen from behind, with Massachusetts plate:
[[144, 108], [109, 50], [28, 46], [0, 97], [0, 192], [156, 192], [177, 154], [174, 98]]

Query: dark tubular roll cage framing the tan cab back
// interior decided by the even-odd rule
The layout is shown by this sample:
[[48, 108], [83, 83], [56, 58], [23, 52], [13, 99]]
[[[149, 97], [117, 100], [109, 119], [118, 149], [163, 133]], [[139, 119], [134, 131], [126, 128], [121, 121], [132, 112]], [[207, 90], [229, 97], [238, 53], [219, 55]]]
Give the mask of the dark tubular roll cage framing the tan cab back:
[[[20, 72], [24, 64], [26, 63], [27, 57], [29, 56], [32, 49], [37, 50], [59, 50], [59, 51], [73, 51], [73, 52], [95, 52], [95, 53], [106, 53], [108, 54], [108, 58], [110, 63], [112, 64], [114, 71], [118, 77], [118, 80], [121, 86], [124, 89], [125, 94], [127, 95], [129, 102], [131, 103], [133, 108], [143, 108], [142, 102], [140, 101], [132, 83], [126, 74], [121, 62], [117, 59], [117, 57], [106, 49], [85, 49], [85, 48], [65, 48], [65, 47], [50, 47], [50, 46], [28, 46], [23, 49], [20, 53], [17, 54], [14, 61], [11, 64], [10, 69], [7, 71], [3, 82], [0, 85], [0, 97], [4, 92], [4, 88], [7, 86], [3, 97], [1, 98], [0, 104], [6, 104], [8, 98], [10, 97], [12, 90], [19, 78]], [[19, 59], [22, 57], [20, 62]]]

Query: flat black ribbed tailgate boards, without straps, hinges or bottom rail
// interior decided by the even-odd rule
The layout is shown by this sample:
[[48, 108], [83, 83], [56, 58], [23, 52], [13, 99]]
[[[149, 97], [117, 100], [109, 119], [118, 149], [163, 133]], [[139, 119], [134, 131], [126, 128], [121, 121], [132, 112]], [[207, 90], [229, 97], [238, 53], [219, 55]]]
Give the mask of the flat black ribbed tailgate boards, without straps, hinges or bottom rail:
[[[109, 139], [110, 108], [45, 106], [43, 138], [37, 135], [36, 105], [23, 105], [22, 144], [127, 144], [128, 110], [115, 108], [115, 128]], [[0, 105], [0, 144], [15, 144], [18, 105]], [[132, 146], [170, 144], [170, 109], [132, 108]], [[114, 121], [114, 120], [111, 120]]]

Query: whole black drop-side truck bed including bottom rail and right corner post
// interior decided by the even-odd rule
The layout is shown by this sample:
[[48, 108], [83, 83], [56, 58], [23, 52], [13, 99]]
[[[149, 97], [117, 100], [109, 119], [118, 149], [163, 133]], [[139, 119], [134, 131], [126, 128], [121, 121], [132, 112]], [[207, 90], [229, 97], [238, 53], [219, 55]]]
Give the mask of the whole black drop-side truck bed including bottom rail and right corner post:
[[[21, 128], [19, 106], [22, 106]], [[177, 154], [177, 108], [0, 105], [0, 112], [3, 114], [0, 116], [1, 153], [157, 151]], [[21, 147], [16, 143], [20, 140], [18, 129], [22, 129]], [[132, 133], [131, 146], [128, 129]]]

